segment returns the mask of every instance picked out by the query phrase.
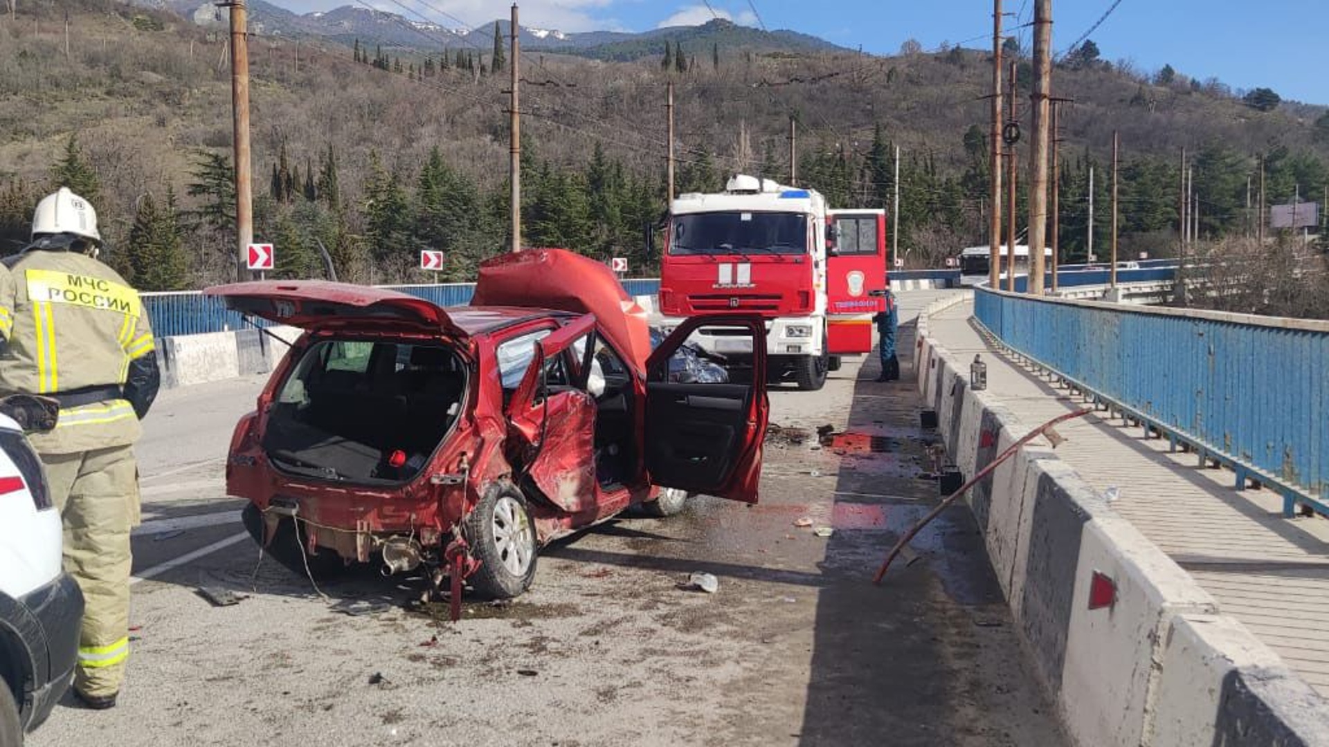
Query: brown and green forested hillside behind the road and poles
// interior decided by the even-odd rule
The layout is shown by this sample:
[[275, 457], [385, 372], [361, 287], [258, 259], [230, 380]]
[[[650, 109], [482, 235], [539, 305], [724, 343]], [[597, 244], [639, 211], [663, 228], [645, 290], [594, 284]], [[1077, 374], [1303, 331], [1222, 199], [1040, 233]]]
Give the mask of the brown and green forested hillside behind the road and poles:
[[[488, 45], [441, 41], [437, 53], [401, 56], [372, 37], [354, 48], [251, 39], [255, 233], [276, 243], [282, 272], [320, 275], [318, 242], [343, 279], [372, 282], [437, 278], [413, 270], [421, 247], [448, 253], [443, 279], [469, 279], [502, 250], [506, 69], [492, 69]], [[225, 43], [109, 0], [20, 0], [15, 20], [0, 16], [0, 242], [16, 249], [32, 205], [62, 181], [96, 199], [114, 262], [144, 287], [233, 274]], [[732, 171], [784, 178], [793, 116], [799, 182], [835, 205], [888, 206], [901, 146], [900, 246], [912, 261], [986, 243], [985, 53], [869, 57], [715, 41], [682, 61], [671, 51], [667, 69], [663, 54], [662, 45], [626, 62], [522, 56], [528, 245], [626, 255], [634, 275], [654, 272], [643, 253], [664, 211], [668, 81], [680, 191], [720, 189]], [[1075, 98], [1062, 117], [1069, 258], [1083, 253], [1090, 166], [1106, 241], [1114, 129], [1124, 251], [1167, 250], [1183, 145], [1195, 154], [1201, 235], [1245, 230], [1257, 154], [1269, 202], [1296, 190], [1316, 199], [1329, 186], [1322, 109], [1243, 101], [1245, 92], [1175, 65], [1142, 72], [1080, 51], [1058, 66], [1057, 94]], [[1027, 64], [1022, 77], [1027, 92]]]

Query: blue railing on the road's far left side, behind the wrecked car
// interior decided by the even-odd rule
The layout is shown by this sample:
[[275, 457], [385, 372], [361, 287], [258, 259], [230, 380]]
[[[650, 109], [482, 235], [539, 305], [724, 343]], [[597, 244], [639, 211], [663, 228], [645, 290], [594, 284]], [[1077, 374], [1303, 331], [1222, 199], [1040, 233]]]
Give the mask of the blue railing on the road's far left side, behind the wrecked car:
[[[654, 295], [661, 282], [655, 278], [622, 280], [629, 295]], [[437, 303], [439, 306], [462, 306], [470, 303], [476, 291], [474, 283], [440, 283], [420, 286], [380, 286], [401, 291]], [[217, 298], [203, 296], [198, 291], [145, 292], [144, 307], [158, 338], [178, 335], [202, 335], [206, 332], [226, 332], [246, 328], [239, 314], [227, 311]], [[262, 319], [255, 320], [266, 326]]]

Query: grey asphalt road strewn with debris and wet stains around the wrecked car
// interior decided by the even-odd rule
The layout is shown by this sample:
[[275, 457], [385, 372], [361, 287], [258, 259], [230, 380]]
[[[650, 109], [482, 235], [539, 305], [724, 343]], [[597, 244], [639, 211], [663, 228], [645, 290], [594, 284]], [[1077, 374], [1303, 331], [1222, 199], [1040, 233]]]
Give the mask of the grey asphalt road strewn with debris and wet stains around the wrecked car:
[[[901, 294], [902, 318], [936, 295]], [[320, 594], [259, 562], [222, 464], [262, 377], [165, 392], [138, 447], [121, 703], [66, 699], [28, 743], [1065, 744], [965, 509], [870, 584], [937, 500], [913, 383], [876, 374], [849, 362], [821, 392], [772, 393], [760, 505], [609, 522], [548, 548], [516, 603], [459, 623], [405, 609], [411, 580], [371, 569]], [[823, 445], [821, 425], [847, 435]], [[718, 593], [680, 587], [694, 570]], [[214, 607], [199, 585], [246, 598]]]

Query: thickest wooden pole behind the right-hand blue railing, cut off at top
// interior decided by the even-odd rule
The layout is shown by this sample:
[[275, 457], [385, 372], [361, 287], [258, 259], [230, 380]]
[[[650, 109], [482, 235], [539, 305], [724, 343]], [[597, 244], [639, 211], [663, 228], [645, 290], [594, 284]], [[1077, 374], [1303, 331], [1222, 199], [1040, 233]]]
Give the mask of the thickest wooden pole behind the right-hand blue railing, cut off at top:
[[1053, 0], [1034, 0], [1034, 141], [1029, 148], [1029, 286], [1030, 295], [1043, 295], [1043, 251], [1047, 249], [1047, 149], [1049, 108], [1053, 86]]

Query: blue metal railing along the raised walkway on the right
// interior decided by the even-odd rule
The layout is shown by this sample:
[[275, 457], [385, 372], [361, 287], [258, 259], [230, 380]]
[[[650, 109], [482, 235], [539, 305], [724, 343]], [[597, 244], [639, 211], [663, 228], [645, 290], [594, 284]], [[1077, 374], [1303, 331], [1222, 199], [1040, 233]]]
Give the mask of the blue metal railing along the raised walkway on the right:
[[[1329, 322], [974, 291], [1010, 350], [1147, 429], [1329, 514]], [[1148, 432], [1148, 431], [1147, 431]]]

